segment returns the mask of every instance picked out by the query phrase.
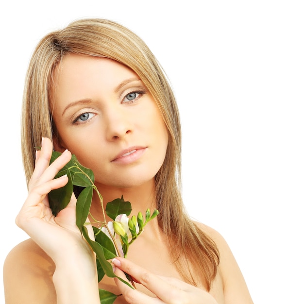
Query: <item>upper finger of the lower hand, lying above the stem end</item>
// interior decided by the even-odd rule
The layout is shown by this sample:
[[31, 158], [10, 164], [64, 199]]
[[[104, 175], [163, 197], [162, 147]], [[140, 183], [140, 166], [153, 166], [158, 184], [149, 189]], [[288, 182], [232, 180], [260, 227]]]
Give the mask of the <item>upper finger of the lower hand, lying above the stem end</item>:
[[130, 274], [137, 282], [152, 291], [165, 303], [172, 303], [173, 299], [184, 297], [185, 292], [182, 289], [172, 286], [160, 276], [141, 268], [127, 259], [118, 257], [112, 263], [120, 270]]

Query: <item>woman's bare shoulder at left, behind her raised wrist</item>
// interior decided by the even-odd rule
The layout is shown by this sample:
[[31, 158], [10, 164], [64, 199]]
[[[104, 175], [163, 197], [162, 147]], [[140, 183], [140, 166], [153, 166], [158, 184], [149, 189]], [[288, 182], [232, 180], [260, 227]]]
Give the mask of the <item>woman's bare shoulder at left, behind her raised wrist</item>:
[[3, 266], [5, 303], [56, 303], [51, 258], [27, 239], [8, 253]]

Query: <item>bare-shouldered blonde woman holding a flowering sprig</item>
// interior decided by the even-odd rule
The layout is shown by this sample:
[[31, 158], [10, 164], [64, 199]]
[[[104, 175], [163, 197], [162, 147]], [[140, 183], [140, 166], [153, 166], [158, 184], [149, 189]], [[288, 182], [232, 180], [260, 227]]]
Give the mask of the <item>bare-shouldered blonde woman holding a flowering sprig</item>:
[[[104, 202], [123, 195], [132, 214], [160, 212], [128, 260], [112, 261], [136, 289], [110, 278], [99, 284], [122, 293], [115, 303], [252, 303], [224, 239], [184, 210], [178, 109], [160, 65], [134, 33], [85, 19], [44, 37], [30, 62], [22, 124], [29, 195], [16, 221], [31, 238], [6, 259], [7, 304], [100, 301], [95, 256], [75, 225], [75, 197], [55, 218], [48, 205], [47, 194], [68, 182], [54, 176], [71, 153], [93, 169]], [[49, 165], [53, 148], [63, 153]], [[100, 214], [93, 196], [89, 220]]]

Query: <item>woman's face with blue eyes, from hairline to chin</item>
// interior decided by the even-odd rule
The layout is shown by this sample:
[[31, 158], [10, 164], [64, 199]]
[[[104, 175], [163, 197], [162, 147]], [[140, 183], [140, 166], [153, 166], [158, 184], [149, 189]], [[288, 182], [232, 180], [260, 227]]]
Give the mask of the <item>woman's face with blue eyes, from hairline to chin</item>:
[[152, 181], [166, 155], [168, 131], [135, 72], [108, 58], [69, 54], [53, 76], [55, 149], [75, 154], [104, 186]]

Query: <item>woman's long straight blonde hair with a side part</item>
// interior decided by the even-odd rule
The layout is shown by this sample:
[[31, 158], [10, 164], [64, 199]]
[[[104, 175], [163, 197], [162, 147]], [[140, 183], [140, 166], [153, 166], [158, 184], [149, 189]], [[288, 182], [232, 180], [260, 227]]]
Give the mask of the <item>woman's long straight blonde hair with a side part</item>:
[[[131, 68], [156, 101], [169, 132], [166, 158], [155, 176], [158, 224], [168, 236], [177, 270], [197, 285], [202, 279], [210, 289], [219, 263], [215, 243], [186, 214], [181, 197], [181, 128], [179, 112], [166, 75], [146, 44], [125, 27], [104, 19], [82, 19], [65, 29], [46, 35], [30, 61], [24, 89], [22, 154], [27, 182], [34, 171], [35, 147], [41, 137], [52, 138], [54, 128], [49, 109], [52, 73], [66, 53], [102, 56]], [[192, 271], [190, 271], [192, 270]]]

